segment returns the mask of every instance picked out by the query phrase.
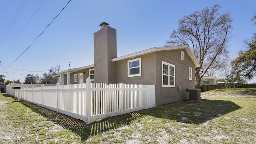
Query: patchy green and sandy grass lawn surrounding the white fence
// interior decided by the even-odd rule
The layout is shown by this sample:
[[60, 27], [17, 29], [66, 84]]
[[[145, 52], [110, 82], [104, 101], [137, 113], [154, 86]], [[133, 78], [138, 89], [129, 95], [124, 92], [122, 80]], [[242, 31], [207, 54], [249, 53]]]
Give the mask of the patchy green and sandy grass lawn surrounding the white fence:
[[201, 97], [86, 125], [3, 94], [0, 136], [8, 139], [0, 143], [256, 143], [256, 88], [218, 89]]

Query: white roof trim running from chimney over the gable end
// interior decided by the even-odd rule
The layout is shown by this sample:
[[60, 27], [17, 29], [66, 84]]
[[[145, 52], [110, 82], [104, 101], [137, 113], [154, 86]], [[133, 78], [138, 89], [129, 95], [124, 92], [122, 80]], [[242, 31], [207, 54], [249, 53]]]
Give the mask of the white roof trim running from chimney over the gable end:
[[135, 58], [136, 56], [141, 56], [141, 55], [144, 55], [144, 54], [149, 54], [149, 53], [152, 53], [152, 52], [157, 52], [157, 51], [163, 51], [163, 50], [181, 50], [181, 49], [185, 49], [186, 52], [188, 53], [188, 55], [190, 56], [190, 58], [192, 59], [192, 61], [194, 62], [194, 64], [196, 65], [196, 68], [197, 67], [200, 67], [200, 64], [198, 63], [196, 57], [194, 56], [194, 54], [192, 53], [192, 51], [190, 50], [189, 46], [188, 45], [182, 45], [182, 46], [160, 46], [160, 47], [154, 47], [154, 48], [150, 48], [150, 49], [147, 49], [147, 50], [142, 50], [140, 52], [135, 52], [135, 53], [132, 53], [132, 54], [127, 54], [125, 56], [120, 56], [118, 58], [112, 58], [112, 62], [116, 62], [116, 61], [119, 61], [119, 60], [124, 60], [124, 59], [127, 59], [127, 58]]

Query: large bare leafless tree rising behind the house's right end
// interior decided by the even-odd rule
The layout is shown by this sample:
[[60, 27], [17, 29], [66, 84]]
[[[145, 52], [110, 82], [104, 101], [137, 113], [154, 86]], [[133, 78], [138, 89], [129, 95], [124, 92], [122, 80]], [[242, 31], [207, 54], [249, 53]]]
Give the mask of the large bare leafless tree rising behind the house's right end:
[[229, 59], [232, 18], [230, 13], [219, 14], [221, 6], [216, 4], [200, 12], [184, 16], [178, 21], [166, 46], [188, 44], [201, 67], [196, 68], [196, 83], [201, 86], [201, 78], [209, 70], [218, 69]]

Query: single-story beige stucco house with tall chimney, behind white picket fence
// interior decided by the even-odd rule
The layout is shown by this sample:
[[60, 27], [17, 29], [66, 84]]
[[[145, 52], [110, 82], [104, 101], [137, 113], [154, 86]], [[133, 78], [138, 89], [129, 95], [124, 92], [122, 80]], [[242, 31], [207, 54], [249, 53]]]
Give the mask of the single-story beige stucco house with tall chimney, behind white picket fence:
[[155, 84], [156, 105], [186, 100], [200, 64], [188, 45], [161, 46], [117, 57], [116, 29], [106, 22], [94, 33], [94, 64], [58, 72], [61, 84]]

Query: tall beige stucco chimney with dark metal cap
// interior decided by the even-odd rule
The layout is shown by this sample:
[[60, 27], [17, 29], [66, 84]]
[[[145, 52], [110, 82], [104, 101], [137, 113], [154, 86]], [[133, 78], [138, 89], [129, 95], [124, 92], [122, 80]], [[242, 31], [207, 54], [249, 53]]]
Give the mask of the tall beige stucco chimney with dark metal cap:
[[116, 83], [116, 29], [102, 22], [94, 33], [94, 82]]

